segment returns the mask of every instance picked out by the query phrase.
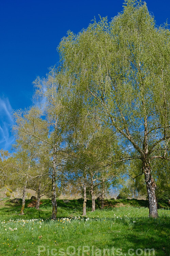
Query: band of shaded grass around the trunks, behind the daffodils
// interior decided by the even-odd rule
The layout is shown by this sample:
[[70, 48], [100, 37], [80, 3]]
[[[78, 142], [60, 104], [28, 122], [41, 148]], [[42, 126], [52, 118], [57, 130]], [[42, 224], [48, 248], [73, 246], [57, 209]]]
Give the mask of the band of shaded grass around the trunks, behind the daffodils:
[[[24, 215], [19, 215], [21, 210], [22, 201], [18, 203], [11, 203], [9, 199], [6, 200], [3, 207], [0, 208], [0, 219], [17, 219], [17, 218], [51, 218], [52, 213], [52, 203], [50, 199], [43, 199], [41, 200], [42, 204], [40, 204], [40, 209], [37, 210], [33, 207], [28, 207], [28, 204], [31, 200], [26, 200]], [[162, 206], [161, 208], [167, 209], [169, 207], [168, 201], [164, 202], [161, 201]], [[68, 217], [68, 216], [78, 216], [82, 215], [82, 205], [83, 199], [74, 199], [74, 200], [57, 200], [57, 217]], [[167, 207], [168, 205], [168, 207]], [[130, 207], [147, 207], [148, 208], [148, 201], [147, 200], [137, 200], [137, 199], [119, 199], [119, 200], [105, 200], [105, 210], [111, 210], [112, 208], [121, 207], [121, 206], [130, 206]], [[100, 209], [100, 201], [96, 200], [96, 210]], [[91, 211], [91, 200], [87, 200], [87, 211]], [[4, 217], [3, 217], [4, 216]], [[23, 216], [23, 217], [22, 217]]]

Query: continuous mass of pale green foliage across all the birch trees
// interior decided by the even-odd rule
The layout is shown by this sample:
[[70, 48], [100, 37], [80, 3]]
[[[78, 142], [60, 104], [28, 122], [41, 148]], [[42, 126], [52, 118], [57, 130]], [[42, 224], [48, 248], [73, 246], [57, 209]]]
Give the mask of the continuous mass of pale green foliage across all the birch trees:
[[58, 52], [59, 67], [34, 81], [34, 106], [14, 113], [16, 152], [0, 151], [0, 186], [17, 180], [38, 191], [41, 184], [55, 208], [69, 183], [99, 196], [111, 180], [124, 183], [122, 199], [151, 190], [152, 199], [169, 198], [167, 24], [157, 27], [145, 2], [125, 0], [110, 23], [100, 17], [68, 31]]

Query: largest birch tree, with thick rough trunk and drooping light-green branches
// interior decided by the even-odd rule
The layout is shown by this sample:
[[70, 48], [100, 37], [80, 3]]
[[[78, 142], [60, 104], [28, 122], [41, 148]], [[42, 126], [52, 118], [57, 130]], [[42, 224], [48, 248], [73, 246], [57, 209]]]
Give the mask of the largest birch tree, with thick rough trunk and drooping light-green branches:
[[158, 216], [152, 166], [170, 160], [167, 26], [155, 25], [145, 2], [125, 0], [110, 23], [101, 18], [77, 35], [69, 31], [58, 47], [67, 86], [119, 134], [129, 159], [140, 159], [152, 217]]

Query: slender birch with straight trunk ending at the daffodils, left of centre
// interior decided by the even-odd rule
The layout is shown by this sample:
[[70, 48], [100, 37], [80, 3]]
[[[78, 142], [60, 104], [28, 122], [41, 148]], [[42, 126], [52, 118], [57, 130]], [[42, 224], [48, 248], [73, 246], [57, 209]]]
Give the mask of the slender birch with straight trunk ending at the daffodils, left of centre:
[[[65, 92], [56, 79], [55, 68], [46, 78], [34, 81], [35, 105], [26, 111], [15, 113], [16, 122], [24, 136], [31, 138], [34, 148], [45, 152], [50, 161], [49, 166], [52, 183], [52, 219], [56, 219], [56, 179], [64, 164], [64, 148], [67, 133], [69, 134], [68, 112], [66, 112]], [[70, 121], [70, 120], [69, 120]]]

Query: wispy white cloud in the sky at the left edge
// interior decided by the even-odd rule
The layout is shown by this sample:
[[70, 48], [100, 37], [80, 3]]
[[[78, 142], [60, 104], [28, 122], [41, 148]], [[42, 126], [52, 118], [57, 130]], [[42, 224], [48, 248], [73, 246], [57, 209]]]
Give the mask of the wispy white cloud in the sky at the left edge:
[[11, 134], [13, 125], [12, 107], [8, 98], [0, 97], [0, 149], [10, 150], [14, 137]]

